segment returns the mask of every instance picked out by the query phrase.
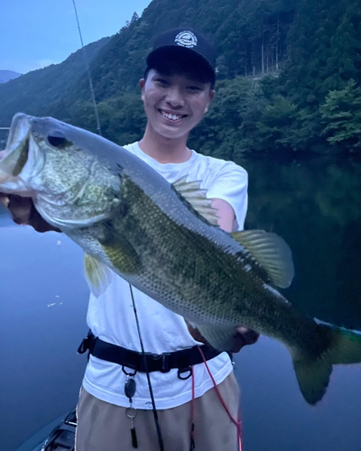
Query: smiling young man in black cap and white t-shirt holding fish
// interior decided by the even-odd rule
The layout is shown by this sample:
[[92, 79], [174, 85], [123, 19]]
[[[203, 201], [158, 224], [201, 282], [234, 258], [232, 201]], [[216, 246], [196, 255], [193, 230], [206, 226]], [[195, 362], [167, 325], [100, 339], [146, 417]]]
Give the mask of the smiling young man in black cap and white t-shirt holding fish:
[[[243, 228], [245, 170], [187, 147], [190, 130], [215, 96], [213, 46], [200, 32], [171, 30], [155, 41], [146, 62], [140, 88], [147, 125], [142, 140], [125, 148], [171, 183], [183, 177], [201, 180], [201, 188], [213, 199], [218, 225], [227, 232]], [[11, 198], [10, 209], [17, 222], [29, 223], [31, 216], [34, 228], [49, 229], [28, 199]], [[90, 348], [90, 358], [79, 396], [77, 451], [131, 451], [135, 445], [144, 451], [161, 449], [134, 305], [144, 350], [152, 353], [146, 357], [147, 370], [164, 449], [189, 451], [195, 445], [196, 451], [236, 451], [232, 419], [237, 419], [239, 394], [228, 354], [204, 346], [205, 364], [199, 333], [184, 318], [131, 290], [116, 274], [105, 293], [89, 299], [88, 326], [93, 335], [84, 347]], [[240, 327], [235, 352], [256, 339], [253, 331]], [[134, 382], [129, 380], [135, 382], [134, 393]]]

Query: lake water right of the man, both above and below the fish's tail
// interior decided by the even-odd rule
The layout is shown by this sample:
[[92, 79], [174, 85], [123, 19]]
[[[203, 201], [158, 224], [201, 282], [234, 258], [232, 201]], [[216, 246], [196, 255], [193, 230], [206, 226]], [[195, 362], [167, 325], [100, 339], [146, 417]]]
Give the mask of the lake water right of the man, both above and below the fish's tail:
[[[286, 297], [311, 318], [361, 330], [361, 161], [239, 162], [250, 180], [246, 226], [274, 231], [292, 248]], [[237, 363], [246, 450], [361, 449], [360, 364], [334, 367], [324, 399], [310, 408], [282, 345], [263, 338]]]

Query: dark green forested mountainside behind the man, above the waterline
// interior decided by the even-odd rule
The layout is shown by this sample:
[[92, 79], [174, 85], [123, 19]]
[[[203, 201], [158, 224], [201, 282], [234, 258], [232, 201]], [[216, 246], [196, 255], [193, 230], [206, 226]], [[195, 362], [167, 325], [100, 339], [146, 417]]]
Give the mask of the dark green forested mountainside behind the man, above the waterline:
[[[218, 49], [218, 95], [192, 132], [197, 150], [226, 158], [246, 151], [360, 152], [358, 0], [153, 0], [101, 51], [93, 44], [91, 73], [107, 138], [124, 144], [140, 137], [137, 82], [145, 56], [157, 34], [176, 26], [202, 30]], [[54, 83], [48, 89], [42, 71], [0, 86], [0, 124], [23, 110], [96, 131], [81, 57], [62, 63], [68, 67], [73, 58], [79, 70], [61, 82], [46, 68]], [[57, 77], [60, 66], [52, 68]]]

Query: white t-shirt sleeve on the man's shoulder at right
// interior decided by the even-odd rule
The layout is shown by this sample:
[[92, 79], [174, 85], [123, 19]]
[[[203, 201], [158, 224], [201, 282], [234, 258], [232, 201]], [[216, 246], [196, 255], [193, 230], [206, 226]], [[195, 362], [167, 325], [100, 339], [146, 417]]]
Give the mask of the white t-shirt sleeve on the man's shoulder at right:
[[248, 174], [241, 166], [227, 161], [212, 180], [208, 198], [221, 198], [233, 207], [238, 223], [238, 230], [245, 227], [245, 215], [248, 207]]

